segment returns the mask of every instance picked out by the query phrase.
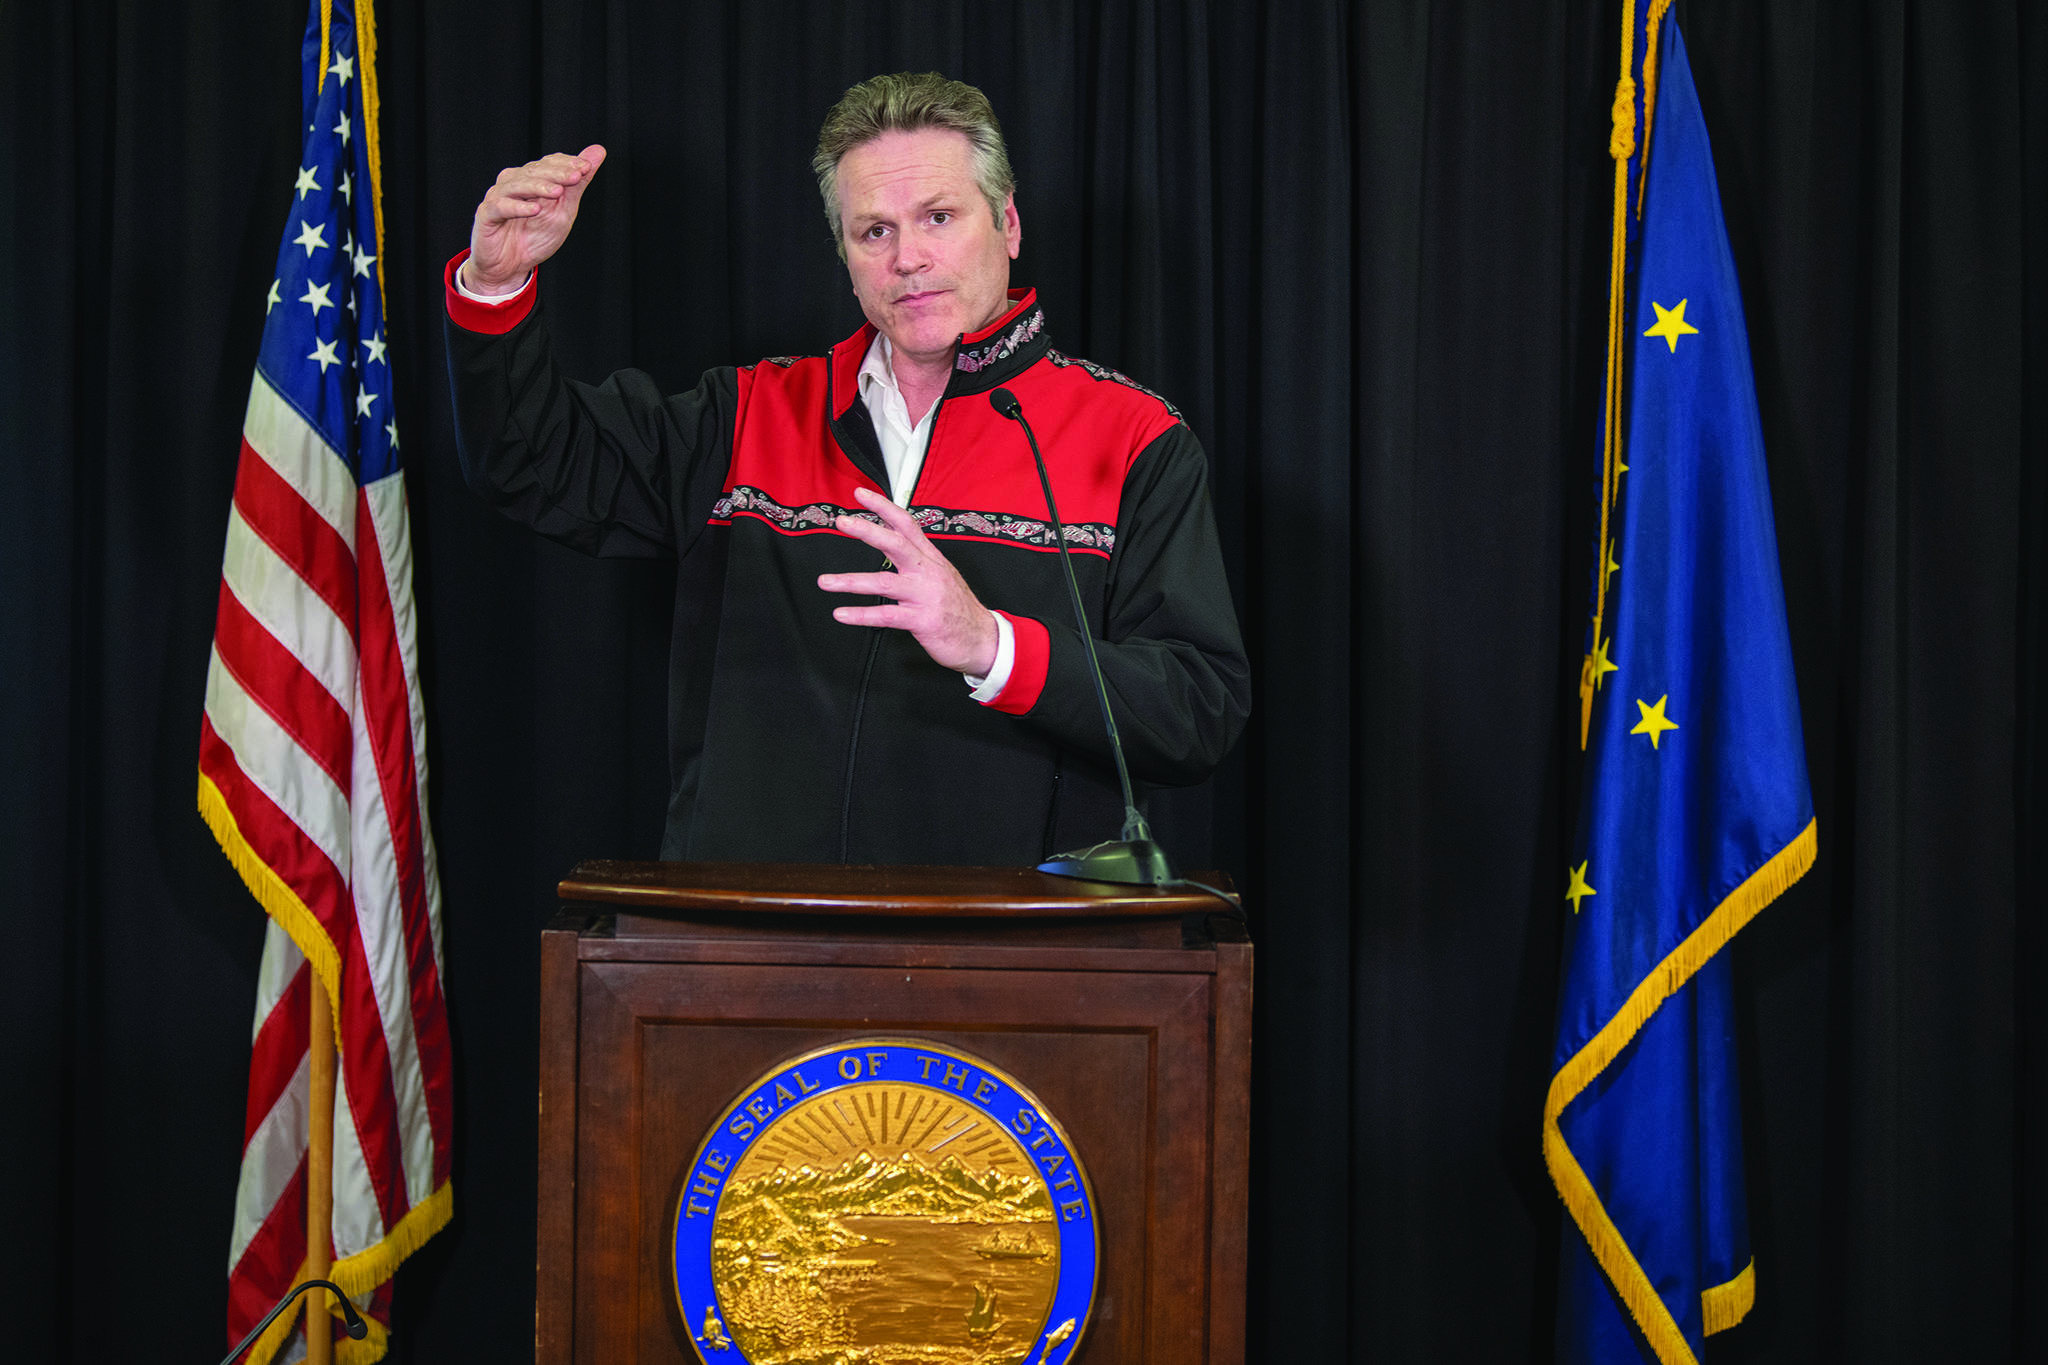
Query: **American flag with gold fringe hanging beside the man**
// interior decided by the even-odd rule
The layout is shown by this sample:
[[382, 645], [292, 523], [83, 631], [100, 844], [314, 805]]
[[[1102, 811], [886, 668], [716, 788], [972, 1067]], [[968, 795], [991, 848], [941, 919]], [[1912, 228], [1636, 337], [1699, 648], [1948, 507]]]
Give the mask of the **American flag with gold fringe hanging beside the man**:
[[[406, 479], [385, 354], [371, 0], [311, 0], [285, 215], [199, 726], [199, 810], [270, 915], [227, 1338], [303, 1277], [311, 990], [340, 1046], [332, 1279], [385, 1353], [397, 1263], [449, 1222], [453, 1081]], [[381, 1322], [377, 1318], [383, 1318]], [[246, 1359], [297, 1359], [281, 1318]]]

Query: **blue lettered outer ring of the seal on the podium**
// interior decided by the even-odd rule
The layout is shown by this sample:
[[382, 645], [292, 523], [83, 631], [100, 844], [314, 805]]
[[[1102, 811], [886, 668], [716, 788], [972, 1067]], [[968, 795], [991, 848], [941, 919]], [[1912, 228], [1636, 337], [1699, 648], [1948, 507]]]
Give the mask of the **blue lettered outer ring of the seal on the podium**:
[[[725, 1181], [739, 1171], [776, 1119], [795, 1105], [854, 1087], [889, 1083], [965, 1101], [1001, 1128], [1047, 1185], [1059, 1236], [1059, 1279], [1030, 1351], [1016, 1365], [1067, 1365], [1079, 1351], [1096, 1302], [1100, 1230], [1096, 1191], [1073, 1144], [1038, 1097], [971, 1052], [920, 1038], [850, 1038], [795, 1056], [762, 1074], [705, 1134], [676, 1199], [676, 1306], [684, 1330], [707, 1365], [752, 1365], [745, 1349], [711, 1328], [707, 1316], [729, 1318], [713, 1275], [713, 1226]], [[698, 1334], [698, 1324], [707, 1334]], [[709, 1340], [707, 1340], [709, 1336]]]

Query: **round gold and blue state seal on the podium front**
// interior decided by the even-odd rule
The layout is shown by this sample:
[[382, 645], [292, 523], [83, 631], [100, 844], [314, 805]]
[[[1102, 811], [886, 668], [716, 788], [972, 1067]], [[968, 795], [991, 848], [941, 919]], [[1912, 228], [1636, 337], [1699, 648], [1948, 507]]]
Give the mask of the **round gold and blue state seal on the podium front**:
[[1067, 1136], [1012, 1076], [922, 1040], [756, 1081], [676, 1205], [676, 1295], [707, 1365], [1065, 1365], [1094, 1289]]

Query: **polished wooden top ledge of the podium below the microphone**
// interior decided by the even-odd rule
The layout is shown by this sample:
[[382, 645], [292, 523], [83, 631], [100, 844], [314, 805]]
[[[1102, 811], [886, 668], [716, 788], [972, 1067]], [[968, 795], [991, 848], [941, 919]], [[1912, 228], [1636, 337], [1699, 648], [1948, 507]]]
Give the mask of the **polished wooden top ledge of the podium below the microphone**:
[[[1233, 890], [1221, 872], [1194, 880]], [[1221, 909], [1192, 888], [1112, 886], [1036, 868], [874, 868], [838, 864], [584, 862], [561, 898], [639, 913], [932, 915], [954, 919], [1122, 919]]]

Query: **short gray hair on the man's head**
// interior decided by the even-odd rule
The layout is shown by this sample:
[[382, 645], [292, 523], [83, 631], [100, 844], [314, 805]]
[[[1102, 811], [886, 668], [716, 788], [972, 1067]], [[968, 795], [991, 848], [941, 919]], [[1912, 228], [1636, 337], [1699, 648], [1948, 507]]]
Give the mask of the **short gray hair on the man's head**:
[[1004, 129], [995, 123], [989, 96], [965, 82], [946, 80], [938, 72], [870, 76], [840, 96], [840, 102], [825, 115], [825, 127], [817, 131], [817, 156], [811, 158], [840, 260], [846, 260], [846, 233], [840, 223], [840, 160], [883, 133], [913, 133], [918, 129], [948, 129], [967, 137], [975, 156], [975, 188], [989, 201], [995, 227], [1004, 225], [1004, 203], [1018, 182], [1010, 172], [1010, 151], [1004, 149]]

